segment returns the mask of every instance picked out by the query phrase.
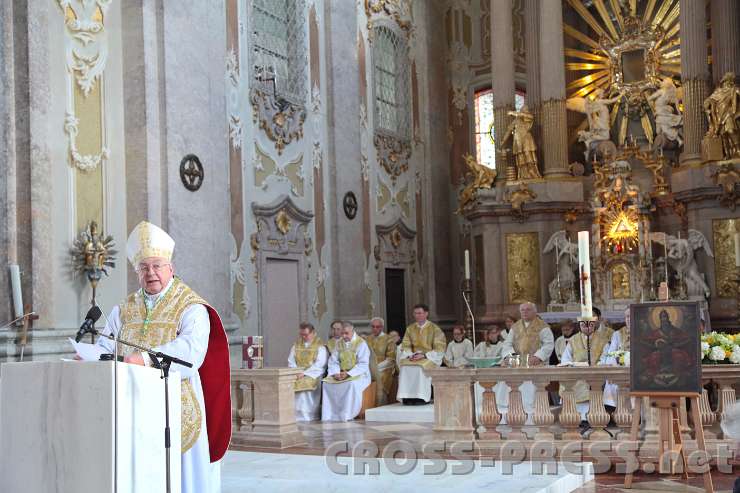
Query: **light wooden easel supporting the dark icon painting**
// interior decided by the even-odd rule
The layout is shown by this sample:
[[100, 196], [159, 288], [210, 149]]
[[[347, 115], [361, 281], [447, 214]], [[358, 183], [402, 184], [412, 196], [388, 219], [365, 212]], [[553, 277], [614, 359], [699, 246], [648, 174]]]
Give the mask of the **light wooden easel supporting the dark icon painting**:
[[[707, 447], [704, 443], [704, 428], [699, 416], [699, 394], [698, 393], [673, 393], [673, 392], [630, 392], [631, 397], [635, 397], [635, 406], [632, 409], [632, 427], [630, 428], [630, 441], [637, 442], [637, 431], [640, 426], [640, 409], [642, 407], [642, 398], [648, 397], [650, 405], [658, 408], [658, 472], [660, 474], [676, 473], [678, 457], [683, 461], [683, 476], [689, 479], [688, 462], [686, 460], [686, 451], [681, 438], [681, 420], [679, 409], [681, 399], [688, 398], [691, 404], [691, 418], [694, 422], [694, 432], [696, 434], [696, 444], [698, 450], [706, 452]], [[663, 455], [666, 452], [672, 452], [671, 463], [668, 471], [663, 468]], [[639, 449], [638, 449], [639, 456]], [[638, 458], [639, 463], [639, 458]], [[702, 473], [704, 478], [704, 491], [714, 493], [712, 485], [711, 468]], [[633, 473], [628, 472], [624, 478], [624, 487], [632, 488]]]

